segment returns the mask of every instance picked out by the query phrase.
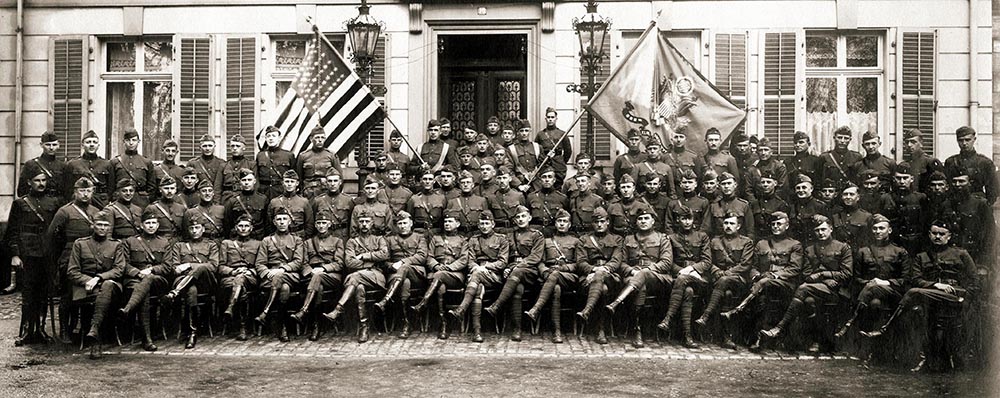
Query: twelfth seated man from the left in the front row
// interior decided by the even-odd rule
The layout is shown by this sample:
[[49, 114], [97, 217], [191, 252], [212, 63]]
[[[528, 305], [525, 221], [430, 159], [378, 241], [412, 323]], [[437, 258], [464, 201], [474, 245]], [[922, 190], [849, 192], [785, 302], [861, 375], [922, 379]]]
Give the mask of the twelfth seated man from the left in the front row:
[[552, 298], [552, 342], [559, 344], [562, 339], [562, 323], [560, 322], [562, 292], [572, 292], [576, 290], [580, 278], [576, 273], [577, 252], [580, 250], [580, 238], [571, 235], [570, 215], [565, 209], [556, 212], [556, 233], [551, 238], [546, 238], [542, 263], [539, 266], [542, 270], [542, 290], [538, 293], [538, 299], [530, 310], [525, 311], [525, 315], [531, 318], [532, 322], [538, 321], [538, 313], [542, 307]]

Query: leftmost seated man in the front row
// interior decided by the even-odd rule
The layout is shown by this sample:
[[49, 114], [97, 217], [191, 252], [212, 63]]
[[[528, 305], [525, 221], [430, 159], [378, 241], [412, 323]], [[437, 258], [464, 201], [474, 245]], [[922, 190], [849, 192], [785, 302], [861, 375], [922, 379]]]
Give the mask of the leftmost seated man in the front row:
[[94, 233], [77, 239], [69, 256], [66, 278], [72, 289], [74, 305], [83, 300], [94, 300], [94, 316], [85, 338], [90, 341], [90, 359], [101, 357], [98, 331], [111, 310], [111, 303], [122, 294], [119, 283], [125, 269], [125, 255], [119, 250], [121, 242], [111, 237], [111, 220], [108, 213], [94, 215]]

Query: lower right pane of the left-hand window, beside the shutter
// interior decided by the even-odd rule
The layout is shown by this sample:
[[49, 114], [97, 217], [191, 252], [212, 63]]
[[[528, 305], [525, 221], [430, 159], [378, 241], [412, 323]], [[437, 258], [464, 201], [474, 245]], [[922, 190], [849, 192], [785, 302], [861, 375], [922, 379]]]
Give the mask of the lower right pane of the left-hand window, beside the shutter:
[[142, 83], [142, 153], [163, 160], [160, 147], [171, 134], [171, 82]]

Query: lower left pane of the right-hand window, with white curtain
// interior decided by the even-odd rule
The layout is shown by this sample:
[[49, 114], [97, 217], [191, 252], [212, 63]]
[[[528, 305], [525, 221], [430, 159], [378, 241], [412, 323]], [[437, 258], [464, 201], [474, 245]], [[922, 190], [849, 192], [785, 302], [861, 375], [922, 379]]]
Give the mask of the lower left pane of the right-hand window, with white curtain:
[[806, 133], [817, 149], [825, 151], [832, 147], [833, 130], [836, 128], [837, 79], [806, 79]]

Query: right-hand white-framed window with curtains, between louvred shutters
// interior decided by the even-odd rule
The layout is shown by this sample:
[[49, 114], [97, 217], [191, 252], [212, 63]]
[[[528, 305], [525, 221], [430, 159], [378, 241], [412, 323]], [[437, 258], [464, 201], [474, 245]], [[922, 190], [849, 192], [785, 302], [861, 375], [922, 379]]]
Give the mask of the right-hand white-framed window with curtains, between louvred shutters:
[[882, 42], [881, 32], [806, 32], [806, 132], [817, 150], [833, 148], [839, 126], [882, 132]]

